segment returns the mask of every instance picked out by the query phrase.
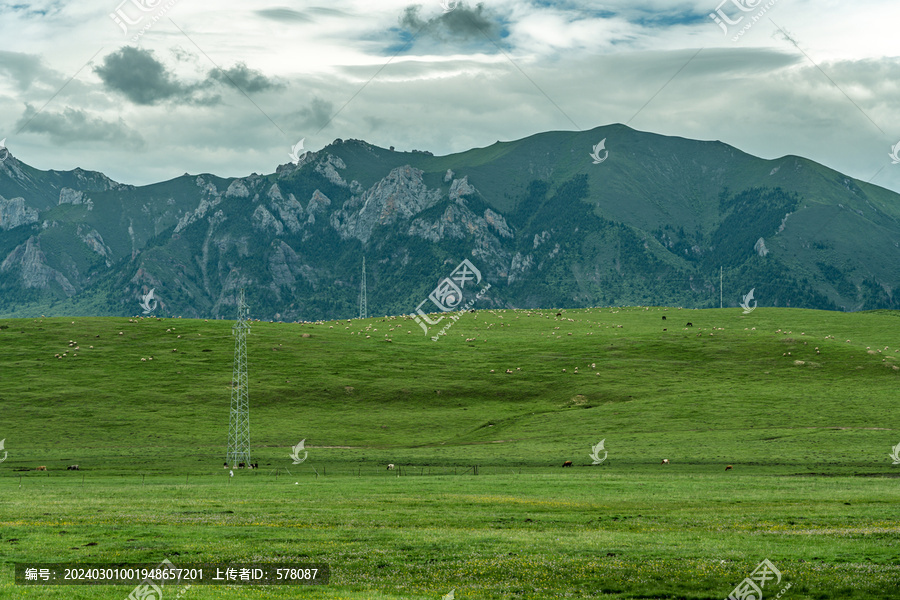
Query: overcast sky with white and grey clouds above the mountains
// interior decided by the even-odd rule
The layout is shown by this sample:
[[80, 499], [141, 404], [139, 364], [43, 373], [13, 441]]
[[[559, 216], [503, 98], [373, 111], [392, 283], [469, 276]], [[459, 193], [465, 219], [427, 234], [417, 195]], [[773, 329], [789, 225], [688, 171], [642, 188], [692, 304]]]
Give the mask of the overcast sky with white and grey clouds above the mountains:
[[140, 185], [625, 123], [900, 191], [897, 0], [279, 1], [0, 3], [0, 140]]

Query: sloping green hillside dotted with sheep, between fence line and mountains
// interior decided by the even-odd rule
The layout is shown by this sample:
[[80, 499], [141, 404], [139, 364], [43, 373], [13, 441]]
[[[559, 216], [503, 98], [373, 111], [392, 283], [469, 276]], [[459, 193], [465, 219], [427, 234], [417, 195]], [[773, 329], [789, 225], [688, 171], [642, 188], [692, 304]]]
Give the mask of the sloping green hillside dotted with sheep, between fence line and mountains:
[[[329, 452], [338, 463], [398, 461], [396, 449], [416, 447], [436, 465], [538, 467], [578, 458], [570, 455], [597, 435], [627, 432], [628, 443], [615, 444], [620, 468], [677, 453], [698, 469], [722, 461], [807, 469], [816, 460], [816, 470], [855, 472], [883, 462], [896, 425], [897, 319], [762, 308], [478, 311], [437, 342], [408, 317], [257, 322], [248, 341], [253, 443], [273, 464], [300, 436], [366, 447]], [[148, 458], [215, 462], [228, 420], [231, 324], [2, 321], [3, 369], [15, 374], [2, 397], [16, 445], [68, 457], [119, 447], [121, 432]], [[148, 421], [159, 431], [141, 437]], [[857, 430], [880, 441], [857, 454]], [[695, 442], [650, 441], [663, 431]], [[721, 444], [716, 453], [703, 450], [712, 443]]]

